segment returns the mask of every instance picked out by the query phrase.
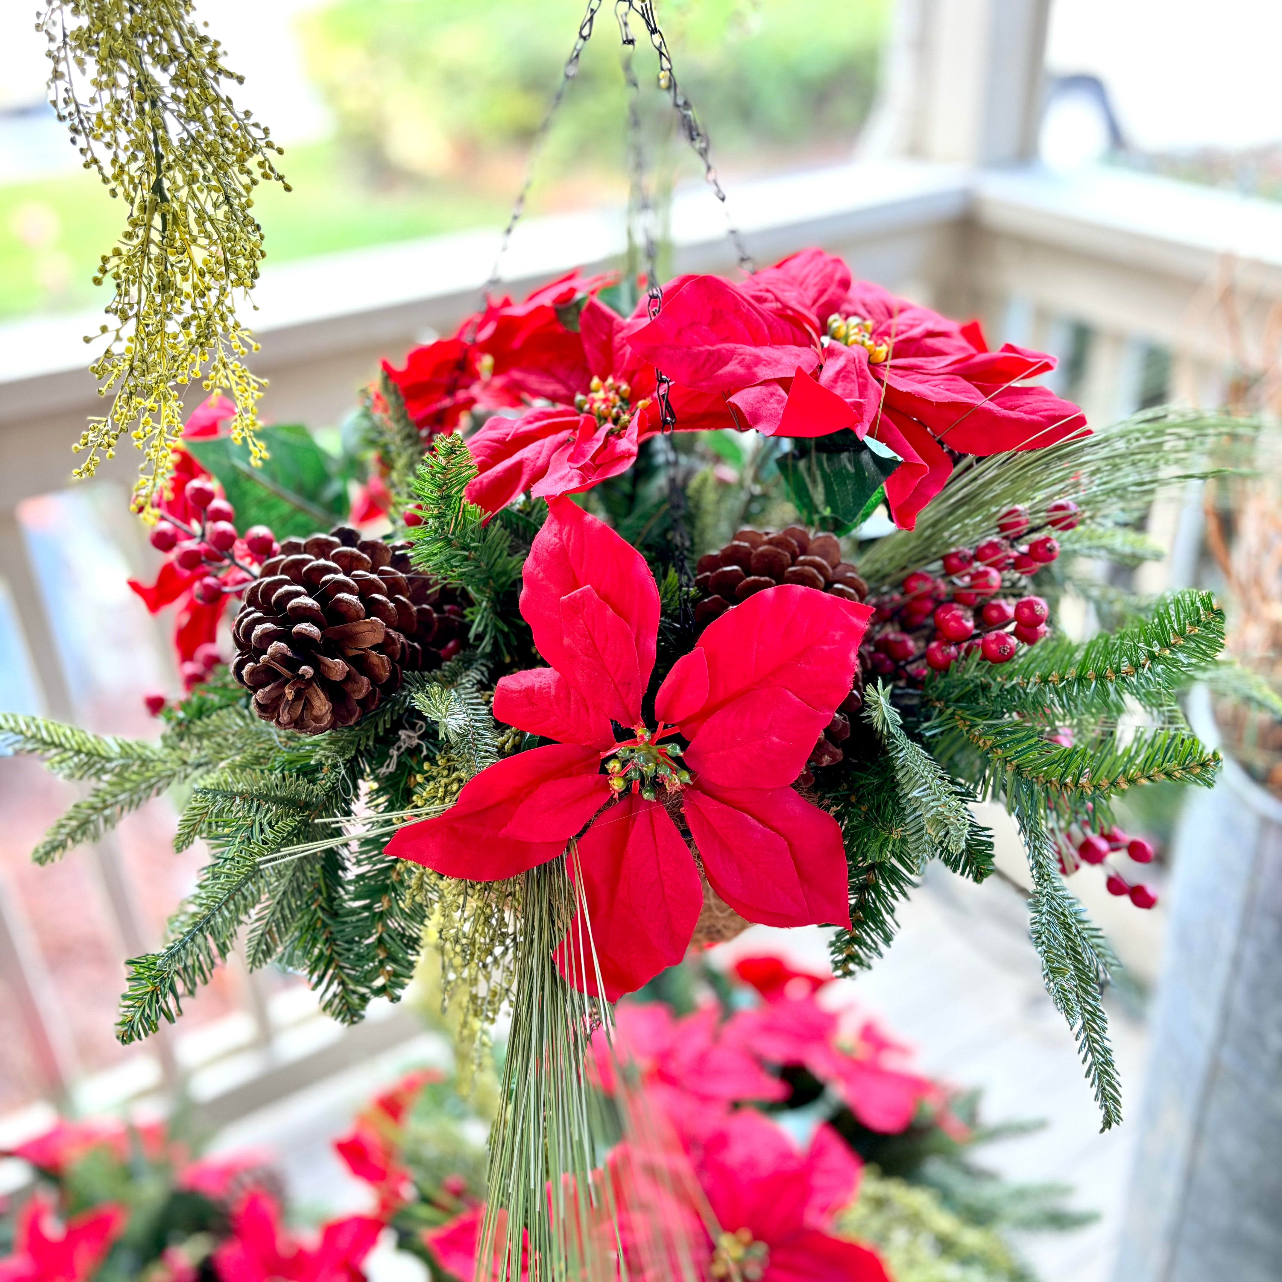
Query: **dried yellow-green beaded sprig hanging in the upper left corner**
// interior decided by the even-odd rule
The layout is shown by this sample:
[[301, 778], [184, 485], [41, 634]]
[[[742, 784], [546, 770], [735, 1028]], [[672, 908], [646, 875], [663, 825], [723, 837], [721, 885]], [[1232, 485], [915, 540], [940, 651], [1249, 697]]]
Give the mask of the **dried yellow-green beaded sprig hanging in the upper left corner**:
[[72, 132], [86, 169], [96, 169], [129, 215], [95, 285], [108, 277], [106, 350], [90, 365], [110, 410], [91, 418], [74, 476], [92, 476], [126, 431], [144, 451], [133, 508], [154, 508], [182, 433], [182, 388], [200, 381], [236, 403], [232, 437], [256, 440], [264, 381], [246, 368], [255, 351], [236, 319], [237, 291], [258, 279], [263, 228], [254, 218], [259, 182], [288, 183], [271, 131], [237, 110], [223, 81], [244, 83], [222, 46], [192, 17], [191, 0], [46, 0], [37, 29], [49, 40], [50, 101]]

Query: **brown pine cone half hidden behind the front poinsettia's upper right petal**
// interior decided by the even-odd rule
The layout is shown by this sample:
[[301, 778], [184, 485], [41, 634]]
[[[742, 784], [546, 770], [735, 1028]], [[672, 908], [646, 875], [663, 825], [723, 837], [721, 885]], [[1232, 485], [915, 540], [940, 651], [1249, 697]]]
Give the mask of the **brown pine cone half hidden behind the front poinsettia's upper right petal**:
[[800, 583], [847, 601], [862, 601], [868, 595], [868, 585], [855, 567], [841, 559], [837, 536], [812, 535], [801, 526], [778, 533], [741, 529], [720, 551], [700, 556], [695, 576], [695, 587], [704, 597], [695, 605], [700, 627], [736, 601], [779, 583]]

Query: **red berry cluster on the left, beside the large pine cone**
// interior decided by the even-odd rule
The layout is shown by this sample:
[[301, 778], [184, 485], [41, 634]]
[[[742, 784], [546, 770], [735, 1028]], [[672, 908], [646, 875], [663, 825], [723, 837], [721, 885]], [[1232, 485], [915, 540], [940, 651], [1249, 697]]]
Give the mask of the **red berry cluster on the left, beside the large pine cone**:
[[[151, 546], [167, 553], [171, 563], [191, 579], [191, 595], [201, 605], [215, 605], [224, 596], [244, 591], [258, 577], [256, 565], [279, 551], [276, 535], [267, 526], [236, 528], [236, 510], [219, 497], [208, 477], [194, 477], [183, 488], [192, 523], [173, 513], [163, 513], [151, 529]], [[222, 663], [218, 647], [205, 642], [181, 664], [187, 690], [204, 681]], [[149, 696], [153, 709], [162, 696]]]

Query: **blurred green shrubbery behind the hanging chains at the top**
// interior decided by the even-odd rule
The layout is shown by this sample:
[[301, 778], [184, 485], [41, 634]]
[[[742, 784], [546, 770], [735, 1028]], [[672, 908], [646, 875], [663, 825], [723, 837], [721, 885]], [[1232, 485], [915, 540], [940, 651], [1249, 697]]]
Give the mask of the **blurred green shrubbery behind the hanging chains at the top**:
[[[851, 0], [820, 24], [808, 0], [670, 0], [659, 17], [717, 153], [744, 156], [853, 142], [872, 104], [888, 8]], [[340, 0], [304, 21], [303, 42], [369, 178], [456, 179], [529, 142], [579, 15], [579, 0]], [[633, 26], [647, 76], [653, 55]], [[551, 164], [622, 156], [618, 49], [603, 6]]]

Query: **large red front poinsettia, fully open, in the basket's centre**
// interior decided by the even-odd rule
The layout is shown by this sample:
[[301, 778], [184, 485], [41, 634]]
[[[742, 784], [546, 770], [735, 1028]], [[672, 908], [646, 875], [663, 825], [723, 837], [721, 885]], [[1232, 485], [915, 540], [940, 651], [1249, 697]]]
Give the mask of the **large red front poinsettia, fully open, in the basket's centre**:
[[[551, 667], [504, 677], [494, 714], [556, 742], [482, 770], [445, 814], [401, 828], [388, 854], [491, 881], [582, 833], [572, 874], [588, 919], [570, 929], [591, 929], [612, 1000], [681, 960], [703, 906], [669, 805], [713, 890], [749, 920], [847, 922], [841, 829], [790, 785], [850, 690], [870, 610], [794, 585], [750, 596], [672, 667], [651, 729], [642, 699], [659, 592], [641, 554], [554, 499], [523, 577], [520, 613]], [[595, 976], [574, 981], [596, 991]]]

